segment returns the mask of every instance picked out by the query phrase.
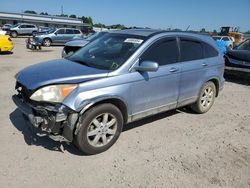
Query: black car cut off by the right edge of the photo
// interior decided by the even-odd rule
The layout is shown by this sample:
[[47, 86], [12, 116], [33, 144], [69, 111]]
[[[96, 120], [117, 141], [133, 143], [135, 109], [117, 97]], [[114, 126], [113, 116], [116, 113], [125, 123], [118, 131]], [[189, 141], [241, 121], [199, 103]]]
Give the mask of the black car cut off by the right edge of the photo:
[[250, 73], [250, 39], [245, 40], [225, 55], [226, 69]]

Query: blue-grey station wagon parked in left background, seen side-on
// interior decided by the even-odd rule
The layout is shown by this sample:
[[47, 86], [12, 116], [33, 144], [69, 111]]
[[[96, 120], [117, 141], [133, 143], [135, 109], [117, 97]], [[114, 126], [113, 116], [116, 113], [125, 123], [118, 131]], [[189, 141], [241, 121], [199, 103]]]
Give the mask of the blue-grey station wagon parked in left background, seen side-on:
[[82, 32], [79, 29], [59, 28], [50, 30], [45, 34], [36, 35], [34, 40], [48, 47], [51, 44], [64, 44], [77, 37], [82, 37]]

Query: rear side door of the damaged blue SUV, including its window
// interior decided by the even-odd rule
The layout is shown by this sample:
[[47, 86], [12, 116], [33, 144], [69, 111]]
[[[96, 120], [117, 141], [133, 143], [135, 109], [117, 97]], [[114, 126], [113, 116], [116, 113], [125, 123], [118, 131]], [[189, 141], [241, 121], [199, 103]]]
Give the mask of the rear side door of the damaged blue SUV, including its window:
[[203, 58], [203, 45], [200, 41], [180, 37], [179, 44], [182, 74], [178, 106], [182, 106], [196, 100], [209, 64]]

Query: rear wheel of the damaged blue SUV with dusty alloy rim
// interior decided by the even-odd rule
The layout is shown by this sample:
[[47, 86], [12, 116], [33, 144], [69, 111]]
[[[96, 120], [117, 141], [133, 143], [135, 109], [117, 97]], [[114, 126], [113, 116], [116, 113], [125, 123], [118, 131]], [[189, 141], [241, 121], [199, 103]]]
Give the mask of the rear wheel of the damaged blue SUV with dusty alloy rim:
[[198, 100], [191, 105], [192, 110], [199, 114], [206, 113], [214, 104], [216, 87], [213, 82], [205, 83], [200, 91]]

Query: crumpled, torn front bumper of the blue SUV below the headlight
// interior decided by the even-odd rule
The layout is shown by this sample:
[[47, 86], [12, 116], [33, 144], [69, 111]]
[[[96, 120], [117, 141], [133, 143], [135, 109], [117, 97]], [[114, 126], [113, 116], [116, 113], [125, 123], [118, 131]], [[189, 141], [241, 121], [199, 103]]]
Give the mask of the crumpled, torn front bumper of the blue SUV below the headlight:
[[19, 95], [13, 95], [12, 99], [39, 134], [46, 134], [56, 141], [73, 141], [77, 113], [64, 105], [33, 106]]

